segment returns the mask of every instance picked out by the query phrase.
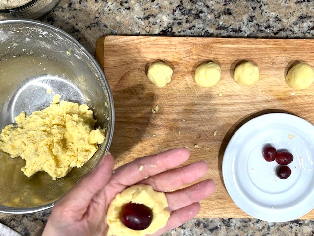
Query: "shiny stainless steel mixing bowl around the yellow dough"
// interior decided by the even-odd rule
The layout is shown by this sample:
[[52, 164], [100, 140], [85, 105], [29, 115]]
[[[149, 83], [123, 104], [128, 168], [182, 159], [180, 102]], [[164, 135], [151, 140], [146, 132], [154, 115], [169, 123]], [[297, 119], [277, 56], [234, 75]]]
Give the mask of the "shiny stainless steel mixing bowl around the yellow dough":
[[50, 106], [52, 97], [87, 104], [105, 129], [105, 140], [81, 168], [52, 180], [39, 171], [26, 177], [25, 161], [0, 150], [0, 212], [30, 213], [53, 206], [78, 179], [92, 170], [109, 149], [114, 127], [112, 94], [105, 74], [93, 56], [74, 38], [31, 20], [0, 21], [0, 130]]

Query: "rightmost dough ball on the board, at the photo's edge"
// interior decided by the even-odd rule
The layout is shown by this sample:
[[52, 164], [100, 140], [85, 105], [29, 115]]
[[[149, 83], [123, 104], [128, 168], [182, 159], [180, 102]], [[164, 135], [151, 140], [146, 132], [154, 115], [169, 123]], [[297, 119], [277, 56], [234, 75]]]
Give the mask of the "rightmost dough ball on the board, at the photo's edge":
[[311, 66], [299, 63], [293, 66], [286, 76], [286, 82], [293, 89], [306, 89], [314, 81], [314, 72]]

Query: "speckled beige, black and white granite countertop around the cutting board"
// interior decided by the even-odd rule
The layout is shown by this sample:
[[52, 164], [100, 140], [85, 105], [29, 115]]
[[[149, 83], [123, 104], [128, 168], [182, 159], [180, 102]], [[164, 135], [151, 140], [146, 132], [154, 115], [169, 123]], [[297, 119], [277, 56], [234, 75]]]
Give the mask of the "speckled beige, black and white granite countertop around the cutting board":
[[[207, 3], [204, 3], [207, 2]], [[313, 38], [311, 0], [61, 0], [40, 19], [63, 29], [91, 53], [105, 35]], [[22, 235], [40, 235], [51, 210], [0, 214]], [[314, 235], [314, 220], [270, 223], [257, 219], [195, 218], [164, 236]]]

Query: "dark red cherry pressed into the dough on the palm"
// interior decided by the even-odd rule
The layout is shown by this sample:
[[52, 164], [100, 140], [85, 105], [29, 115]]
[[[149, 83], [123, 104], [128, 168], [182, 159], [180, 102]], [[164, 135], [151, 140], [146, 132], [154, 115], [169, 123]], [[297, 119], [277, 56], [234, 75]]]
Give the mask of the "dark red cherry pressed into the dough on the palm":
[[130, 202], [121, 208], [120, 220], [132, 230], [144, 230], [152, 223], [153, 212], [144, 204]]

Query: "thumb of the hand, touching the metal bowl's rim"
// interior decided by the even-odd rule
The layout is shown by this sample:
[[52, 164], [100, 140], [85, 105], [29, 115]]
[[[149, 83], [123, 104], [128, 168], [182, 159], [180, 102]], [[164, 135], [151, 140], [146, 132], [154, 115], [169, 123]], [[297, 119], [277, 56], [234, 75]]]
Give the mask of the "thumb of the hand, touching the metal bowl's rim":
[[[113, 156], [107, 152], [97, 166], [64, 195], [57, 205], [65, 204], [64, 207], [72, 208], [77, 213], [86, 211], [93, 196], [108, 183], [114, 167]], [[70, 205], [70, 206], [69, 206]]]

